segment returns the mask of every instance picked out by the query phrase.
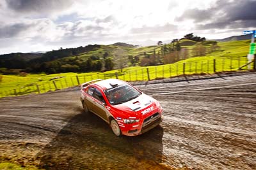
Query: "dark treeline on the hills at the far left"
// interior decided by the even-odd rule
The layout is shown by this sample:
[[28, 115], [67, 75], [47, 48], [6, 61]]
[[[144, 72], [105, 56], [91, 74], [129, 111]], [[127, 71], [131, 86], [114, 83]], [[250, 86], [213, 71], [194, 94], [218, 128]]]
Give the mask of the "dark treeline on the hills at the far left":
[[[78, 48], [60, 48], [60, 50], [52, 50], [51, 52], [46, 53], [4, 54], [0, 55], [0, 68], [2, 68], [0, 71], [2, 73], [4, 73], [4, 71], [10, 72], [10, 69], [22, 69], [22, 71], [29, 73], [100, 71], [100, 69], [102, 69], [102, 61], [97, 57], [95, 58], [92, 56], [89, 59], [78, 59], [78, 57], [76, 57], [78, 54], [90, 52], [99, 48], [100, 45], [88, 45], [84, 47], [79, 46]], [[63, 59], [65, 57], [69, 58]]]

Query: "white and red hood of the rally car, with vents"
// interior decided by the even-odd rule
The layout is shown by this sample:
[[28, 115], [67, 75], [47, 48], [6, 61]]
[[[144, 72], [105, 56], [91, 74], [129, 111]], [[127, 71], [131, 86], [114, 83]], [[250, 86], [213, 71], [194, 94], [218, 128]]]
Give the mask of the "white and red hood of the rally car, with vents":
[[134, 113], [137, 115], [138, 111], [152, 105], [155, 105], [154, 99], [146, 94], [141, 94], [141, 96], [137, 97], [136, 99], [118, 104], [114, 106], [114, 108], [125, 111], [126, 113]]

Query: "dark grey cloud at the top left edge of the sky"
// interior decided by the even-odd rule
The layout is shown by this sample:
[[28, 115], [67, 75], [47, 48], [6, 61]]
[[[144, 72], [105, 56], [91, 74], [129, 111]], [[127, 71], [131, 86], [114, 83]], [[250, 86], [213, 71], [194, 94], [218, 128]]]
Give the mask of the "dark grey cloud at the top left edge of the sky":
[[6, 0], [6, 4], [21, 13], [49, 13], [69, 8], [72, 0]]

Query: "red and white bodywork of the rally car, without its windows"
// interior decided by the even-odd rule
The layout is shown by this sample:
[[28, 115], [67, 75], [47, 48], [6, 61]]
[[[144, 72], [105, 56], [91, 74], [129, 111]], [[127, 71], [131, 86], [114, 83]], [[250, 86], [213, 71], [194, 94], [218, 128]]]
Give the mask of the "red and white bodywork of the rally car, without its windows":
[[[149, 131], [162, 122], [163, 109], [156, 99], [143, 94], [143, 92], [122, 80], [108, 79], [95, 81], [96, 82], [92, 81], [89, 85], [88, 83], [81, 85], [81, 101], [85, 101], [86, 104], [90, 105], [88, 106], [89, 111], [92, 111], [109, 124], [111, 118], [115, 119], [116, 122], [118, 122], [122, 134], [126, 136], [136, 136]], [[125, 103], [111, 104], [105, 94], [106, 90], [115, 88], [111, 86], [111, 83], [115, 84], [116, 87], [130, 85], [140, 92], [140, 96]], [[86, 86], [84, 87], [84, 85]], [[97, 89], [97, 92], [102, 94], [102, 98], [104, 99], [103, 103], [102, 98], [96, 99], [90, 96], [90, 89], [93, 88]], [[125, 123], [124, 119], [136, 120], [138, 122]]]

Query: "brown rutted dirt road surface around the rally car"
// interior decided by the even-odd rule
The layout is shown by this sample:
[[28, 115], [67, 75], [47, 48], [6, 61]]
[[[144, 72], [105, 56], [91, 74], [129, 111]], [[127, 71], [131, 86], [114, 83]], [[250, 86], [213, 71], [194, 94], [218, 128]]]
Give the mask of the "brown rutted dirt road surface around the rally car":
[[0, 99], [0, 162], [44, 169], [256, 169], [256, 73], [137, 85], [164, 120], [117, 138], [79, 89]]

